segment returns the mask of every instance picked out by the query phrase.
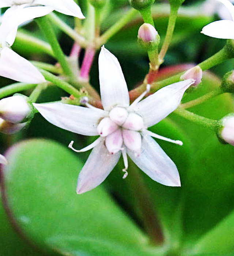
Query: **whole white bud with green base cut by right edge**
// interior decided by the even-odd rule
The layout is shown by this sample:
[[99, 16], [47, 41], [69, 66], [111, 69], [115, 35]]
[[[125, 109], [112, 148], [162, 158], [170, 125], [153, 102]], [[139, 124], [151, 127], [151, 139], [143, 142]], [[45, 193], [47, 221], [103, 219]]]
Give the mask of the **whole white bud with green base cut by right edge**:
[[217, 136], [220, 142], [234, 146], [234, 113], [220, 120]]

